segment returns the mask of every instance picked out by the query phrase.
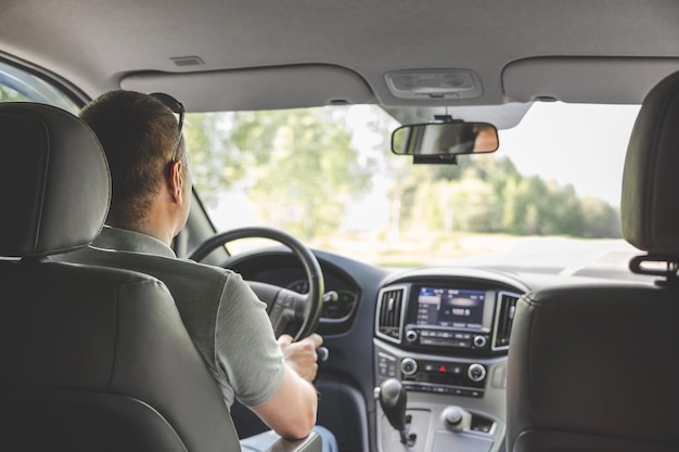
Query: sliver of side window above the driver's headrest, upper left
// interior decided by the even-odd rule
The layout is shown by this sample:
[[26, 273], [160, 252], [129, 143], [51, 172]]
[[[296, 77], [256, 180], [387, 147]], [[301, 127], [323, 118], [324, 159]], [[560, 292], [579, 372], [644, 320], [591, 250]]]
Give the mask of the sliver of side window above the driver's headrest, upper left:
[[27, 70], [0, 61], [0, 102], [39, 102], [74, 115], [79, 107], [55, 86]]

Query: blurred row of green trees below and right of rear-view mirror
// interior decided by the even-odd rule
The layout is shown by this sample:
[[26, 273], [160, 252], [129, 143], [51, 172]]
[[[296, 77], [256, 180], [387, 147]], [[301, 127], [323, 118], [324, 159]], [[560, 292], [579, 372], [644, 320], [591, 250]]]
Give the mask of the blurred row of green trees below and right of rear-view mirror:
[[619, 237], [617, 208], [572, 185], [523, 177], [507, 157], [414, 166], [400, 179], [400, 230]]

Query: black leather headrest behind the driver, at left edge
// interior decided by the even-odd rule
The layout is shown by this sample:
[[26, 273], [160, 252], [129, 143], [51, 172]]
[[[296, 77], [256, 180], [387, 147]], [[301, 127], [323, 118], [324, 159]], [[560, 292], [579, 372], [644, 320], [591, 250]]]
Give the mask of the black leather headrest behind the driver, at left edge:
[[89, 244], [111, 202], [106, 156], [90, 128], [42, 104], [0, 104], [0, 256]]

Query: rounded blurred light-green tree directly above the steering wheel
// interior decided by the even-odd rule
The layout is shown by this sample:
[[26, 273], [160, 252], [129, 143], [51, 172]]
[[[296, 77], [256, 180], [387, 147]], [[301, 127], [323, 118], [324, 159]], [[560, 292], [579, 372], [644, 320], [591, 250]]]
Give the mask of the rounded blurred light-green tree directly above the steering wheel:
[[305, 241], [336, 231], [370, 182], [371, 162], [361, 162], [347, 128], [331, 119], [311, 109], [233, 116], [231, 139], [254, 159], [247, 178], [260, 220]]

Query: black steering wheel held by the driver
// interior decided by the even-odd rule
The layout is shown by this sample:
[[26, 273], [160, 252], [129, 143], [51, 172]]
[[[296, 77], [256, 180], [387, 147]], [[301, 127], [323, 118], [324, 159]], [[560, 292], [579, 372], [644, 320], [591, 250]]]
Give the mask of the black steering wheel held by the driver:
[[269, 238], [279, 242], [290, 249], [302, 261], [306, 272], [309, 290], [298, 294], [284, 287], [272, 284], [248, 281], [257, 297], [267, 305], [269, 320], [276, 337], [289, 332], [291, 326], [299, 324], [295, 332], [290, 334], [294, 340], [307, 337], [316, 330], [323, 308], [323, 273], [316, 256], [299, 240], [293, 235], [273, 228], [240, 228], [226, 231], [203, 242], [189, 259], [201, 261], [213, 250], [229, 242], [240, 238]]

